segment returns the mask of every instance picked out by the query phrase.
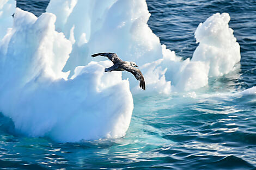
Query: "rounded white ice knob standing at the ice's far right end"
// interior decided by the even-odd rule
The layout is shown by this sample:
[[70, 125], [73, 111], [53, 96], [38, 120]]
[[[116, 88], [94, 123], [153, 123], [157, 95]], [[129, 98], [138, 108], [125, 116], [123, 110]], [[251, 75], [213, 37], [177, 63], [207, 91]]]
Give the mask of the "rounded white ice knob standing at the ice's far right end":
[[240, 46], [229, 28], [230, 16], [217, 13], [200, 23], [195, 37], [199, 46], [194, 51], [192, 61], [203, 61], [210, 66], [209, 76], [216, 77], [234, 70], [240, 61]]

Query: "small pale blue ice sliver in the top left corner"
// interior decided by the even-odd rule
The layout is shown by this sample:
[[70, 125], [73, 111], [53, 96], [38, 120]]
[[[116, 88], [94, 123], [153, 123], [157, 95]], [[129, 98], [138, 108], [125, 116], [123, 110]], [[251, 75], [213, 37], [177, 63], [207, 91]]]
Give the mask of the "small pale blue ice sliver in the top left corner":
[[13, 26], [12, 15], [15, 12], [16, 1], [1, 0], [0, 1], [0, 40], [7, 34], [7, 29]]

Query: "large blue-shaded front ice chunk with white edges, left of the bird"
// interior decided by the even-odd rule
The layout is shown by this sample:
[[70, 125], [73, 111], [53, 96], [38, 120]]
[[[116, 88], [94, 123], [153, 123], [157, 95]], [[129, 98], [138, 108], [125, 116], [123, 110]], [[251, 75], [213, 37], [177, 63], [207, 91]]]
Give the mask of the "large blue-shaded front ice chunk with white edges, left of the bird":
[[120, 72], [104, 73], [111, 61], [77, 67], [68, 79], [62, 69], [72, 44], [55, 31], [55, 20], [16, 9], [0, 46], [0, 111], [27, 136], [59, 142], [124, 136], [133, 110], [129, 82]]

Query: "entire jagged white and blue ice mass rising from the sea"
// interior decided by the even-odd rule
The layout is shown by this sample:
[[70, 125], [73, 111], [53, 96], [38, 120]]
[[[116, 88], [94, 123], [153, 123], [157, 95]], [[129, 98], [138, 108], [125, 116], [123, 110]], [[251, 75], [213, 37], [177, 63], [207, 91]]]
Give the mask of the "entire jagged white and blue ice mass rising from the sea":
[[[199, 45], [183, 61], [149, 28], [144, 0], [51, 0], [38, 18], [14, 11], [15, 1], [1, 3], [0, 111], [28, 136], [61, 142], [124, 136], [133, 110], [130, 90], [191, 92], [240, 61], [227, 13], [199, 24]], [[121, 72], [104, 73], [112, 63], [90, 56], [99, 52], [136, 61], [147, 91], [130, 73], [123, 73], [129, 81]]]

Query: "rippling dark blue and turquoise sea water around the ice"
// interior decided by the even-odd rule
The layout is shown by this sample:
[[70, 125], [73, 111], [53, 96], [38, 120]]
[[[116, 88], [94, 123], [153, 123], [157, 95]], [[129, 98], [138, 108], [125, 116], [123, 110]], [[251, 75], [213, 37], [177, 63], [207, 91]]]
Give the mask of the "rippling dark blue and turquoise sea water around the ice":
[[[17, 1], [39, 16], [48, 1]], [[241, 46], [240, 70], [211, 78], [193, 93], [133, 96], [126, 136], [57, 143], [15, 134], [0, 116], [1, 169], [256, 169], [256, 1], [147, 1], [149, 26], [182, 58], [196, 49], [194, 31], [216, 12], [228, 12]]]

